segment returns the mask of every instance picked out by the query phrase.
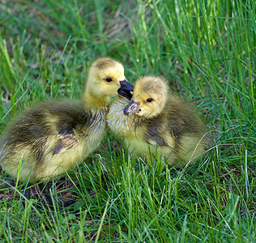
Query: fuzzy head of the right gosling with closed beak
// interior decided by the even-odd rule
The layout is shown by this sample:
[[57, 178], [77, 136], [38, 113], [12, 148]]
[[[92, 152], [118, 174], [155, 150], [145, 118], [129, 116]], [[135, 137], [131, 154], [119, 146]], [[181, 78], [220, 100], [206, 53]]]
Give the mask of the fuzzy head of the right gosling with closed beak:
[[134, 84], [132, 101], [124, 109], [126, 116], [136, 113], [141, 117], [156, 117], [164, 109], [169, 87], [160, 77], [145, 76]]

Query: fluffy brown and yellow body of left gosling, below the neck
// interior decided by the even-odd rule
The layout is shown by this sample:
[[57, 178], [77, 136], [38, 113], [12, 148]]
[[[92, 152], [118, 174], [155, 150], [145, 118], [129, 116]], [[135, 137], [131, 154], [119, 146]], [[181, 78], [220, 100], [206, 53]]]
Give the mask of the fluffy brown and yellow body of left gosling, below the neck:
[[[74, 168], [105, 135], [106, 110], [92, 112], [77, 100], [38, 104], [9, 126], [1, 139], [0, 164], [19, 180], [47, 180]], [[45, 178], [45, 179], [44, 179]]]

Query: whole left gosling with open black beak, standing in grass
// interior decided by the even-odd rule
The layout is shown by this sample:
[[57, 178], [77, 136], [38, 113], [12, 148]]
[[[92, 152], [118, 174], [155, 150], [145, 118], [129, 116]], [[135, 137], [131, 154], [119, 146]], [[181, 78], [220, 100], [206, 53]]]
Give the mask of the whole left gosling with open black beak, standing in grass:
[[[28, 109], [0, 140], [0, 164], [19, 181], [44, 182], [75, 168], [100, 145], [112, 96], [130, 98], [124, 67], [99, 58], [88, 71], [81, 100], [50, 100]], [[128, 92], [126, 92], [128, 91]], [[20, 169], [19, 169], [20, 167]]]

